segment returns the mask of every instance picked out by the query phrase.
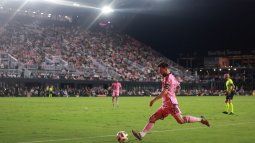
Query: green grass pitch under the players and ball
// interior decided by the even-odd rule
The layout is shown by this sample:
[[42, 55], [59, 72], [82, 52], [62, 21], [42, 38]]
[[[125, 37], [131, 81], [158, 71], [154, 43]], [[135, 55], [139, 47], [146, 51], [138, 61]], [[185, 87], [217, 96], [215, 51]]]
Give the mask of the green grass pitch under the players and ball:
[[[0, 98], [1, 143], [115, 143], [124, 130], [137, 143], [132, 129], [141, 130], [150, 114], [150, 97], [121, 97], [113, 108], [110, 97]], [[200, 123], [179, 125], [160, 120], [142, 143], [252, 143], [255, 141], [255, 97], [234, 97], [235, 113], [225, 115], [225, 97], [178, 97], [183, 114], [204, 115]]]

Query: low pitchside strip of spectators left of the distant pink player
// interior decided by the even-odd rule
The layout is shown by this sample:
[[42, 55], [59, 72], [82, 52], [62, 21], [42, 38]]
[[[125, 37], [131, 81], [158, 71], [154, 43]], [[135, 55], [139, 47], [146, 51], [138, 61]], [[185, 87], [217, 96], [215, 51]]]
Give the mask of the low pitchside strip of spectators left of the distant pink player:
[[[53, 86], [53, 90], [50, 91], [50, 86], [24, 86], [24, 85], [8, 85], [0, 83], [0, 97], [89, 97], [108, 95], [108, 89], [102, 87], [62, 87], [58, 88]], [[2, 85], [3, 84], [3, 85]]]

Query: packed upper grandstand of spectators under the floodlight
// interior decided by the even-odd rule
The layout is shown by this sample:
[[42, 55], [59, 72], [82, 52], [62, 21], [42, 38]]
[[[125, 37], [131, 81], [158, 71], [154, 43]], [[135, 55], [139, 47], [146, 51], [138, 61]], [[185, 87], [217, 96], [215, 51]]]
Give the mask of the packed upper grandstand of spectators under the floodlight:
[[9, 16], [0, 13], [0, 53], [17, 59], [17, 77], [22, 77], [20, 69], [25, 69], [25, 75], [32, 78], [59, 79], [61, 73], [64, 78], [78, 80], [159, 81], [157, 64], [162, 60], [183, 80], [191, 77], [171, 60], [128, 35], [22, 15], [6, 23]]

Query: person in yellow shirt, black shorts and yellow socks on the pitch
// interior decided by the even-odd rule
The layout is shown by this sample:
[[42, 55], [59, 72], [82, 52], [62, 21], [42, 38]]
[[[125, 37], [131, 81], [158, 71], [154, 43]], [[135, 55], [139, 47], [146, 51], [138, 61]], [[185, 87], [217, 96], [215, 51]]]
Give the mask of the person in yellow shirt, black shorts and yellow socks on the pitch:
[[[229, 74], [224, 74], [224, 78], [226, 80], [226, 100], [225, 100], [225, 111], [222, 112], [224, 114], [233, 115], [234, 114], [234, 105], [232, 103], [233, 97], [235, 95], [235, 85], [233, 80], [230, 78]], [[229, 112], [230, 109], [230, 112]]]

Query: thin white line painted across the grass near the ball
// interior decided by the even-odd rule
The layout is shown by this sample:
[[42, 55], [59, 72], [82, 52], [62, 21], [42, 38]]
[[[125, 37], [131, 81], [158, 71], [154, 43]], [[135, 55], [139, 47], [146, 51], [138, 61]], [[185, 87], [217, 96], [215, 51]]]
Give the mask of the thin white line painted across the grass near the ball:
[[[244, 124], [254, 124], [255, 122], [243, 122], [243, 123], [231, 123], [224, 124], [214, 127], [227, 127], [227, 126], [235, 126], [235, 125], [244, 125]], [[171, 129], [171, 130], [161, 130], [161, 131], [151, 131], [150, 133], [162, 133], [162, 132], [174, 132], [174, 131], [185, 131], [185, 130], [196, 130], [196, 129], [205, 129], [208, 127], [194, 127], [194, 128], [183, 128], [183, 129]], [[114, 137], [115, 135], [105, 135], [105, 136], [94, 136], [94, 137], [84, 137], [84, 138], [69, 138], [69, 139], [52, 139], [52, 140], [39, 140], [39, 141], [29, 141], [29, 142], [18, 142], [18, 143], [46, 143], [46, 142], [59, 142], [59, 141], [72, 141], [72, 140], [82, 140], [82, 139], [93, 139], [93, 138], [106, 138], [106, 137]]]

